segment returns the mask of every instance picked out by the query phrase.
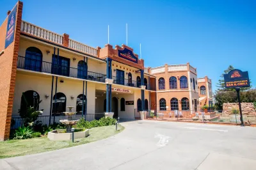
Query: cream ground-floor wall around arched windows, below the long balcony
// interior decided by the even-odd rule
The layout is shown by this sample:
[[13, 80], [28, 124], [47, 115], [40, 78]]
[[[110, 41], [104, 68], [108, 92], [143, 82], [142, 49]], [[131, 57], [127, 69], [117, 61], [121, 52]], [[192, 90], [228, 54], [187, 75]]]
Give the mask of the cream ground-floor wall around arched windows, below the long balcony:
[[[63, 83], [60, 82], [61, 79], [64, 81]], [[56, 77], [54, 77], [53, 96], [55, 94], [55, 81]], [[26, 72], [18, 71], [13, 100], [13, 116], [19, 116], [18, 110], [20, 109], [22, 93], [28, 90], [34, 90], [40, 95], [40, 100], [42, 100], [42, 103], [40, 104], [39, 109], [44, 109], [44, 113], [42, 115], [48, 116], [51, 104], [51, 82], [51, 76], [40, 75], [38, 73], [28, 74]], [[87, 112], [95, 113], [95, 84], [88, 82], [87, 91]], [[65, 94], [67, 98], [66, 106], [74, 105], [75, 107], [73, 111], [76, 111], [76, 98], [78, 95], [83, 93], [83, 81], [58, 77], [57, 93], [58, 92]], [[45, 95], [49, 95], [49, 98], [46, 99]], [[74, 99], [72, 100], [71, 97], [74, 97]]]

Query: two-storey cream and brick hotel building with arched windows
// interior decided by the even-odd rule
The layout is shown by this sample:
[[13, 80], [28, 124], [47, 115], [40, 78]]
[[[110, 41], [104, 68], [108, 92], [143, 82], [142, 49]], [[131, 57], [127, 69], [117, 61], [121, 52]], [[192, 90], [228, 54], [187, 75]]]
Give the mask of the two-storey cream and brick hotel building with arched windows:
[[87, 120], [88, 114], [134, 120], [150, 110], [197, 111], [199, 80], [189, 63], [145, 68], [127, 45], [90, 47], [22, 20], [22, 6], [19, 1], [0, 27], [1, 140], [29, 106], [44, 109], [49, 123], [68, 105]]

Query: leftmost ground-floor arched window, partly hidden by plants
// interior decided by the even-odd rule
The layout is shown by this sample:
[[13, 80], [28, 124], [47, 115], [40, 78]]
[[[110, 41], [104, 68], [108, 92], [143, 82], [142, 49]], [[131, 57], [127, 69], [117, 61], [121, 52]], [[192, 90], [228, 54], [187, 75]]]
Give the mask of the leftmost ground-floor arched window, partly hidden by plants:
[[36, 91], [29, 90], [22, 93], [20, 103], [20, 113], [25, 113], [28, 107], [34, 107], [36, 110], [39, 109], [40, 96]]

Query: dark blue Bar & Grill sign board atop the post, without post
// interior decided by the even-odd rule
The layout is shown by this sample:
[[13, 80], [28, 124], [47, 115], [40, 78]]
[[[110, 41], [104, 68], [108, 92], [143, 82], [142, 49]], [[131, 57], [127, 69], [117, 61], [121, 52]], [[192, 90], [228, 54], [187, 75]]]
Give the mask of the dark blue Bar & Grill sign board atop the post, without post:
[[224, 74], [226, 88], [247, 88], [250, 87], [248, 72], [234, 69]]

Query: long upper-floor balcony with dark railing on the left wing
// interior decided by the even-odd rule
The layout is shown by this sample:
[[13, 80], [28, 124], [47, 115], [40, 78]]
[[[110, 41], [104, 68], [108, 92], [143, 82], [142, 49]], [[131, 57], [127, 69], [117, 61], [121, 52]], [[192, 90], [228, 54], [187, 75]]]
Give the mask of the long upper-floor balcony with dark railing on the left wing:
[[87, 75], [85, 69], [72, 68], [69, 66], [61, 66], [38, 59], [24, 58], [18, 56], [17, 68], [31, 70], [34, 72], [52, 73], [56, 75], [63, 75], [66, 77], [75, 77], [79, 79], [86, 79], [90, 81], [105, 82], [106, 75], [102, 73], [95, 73], [88, 71]]

